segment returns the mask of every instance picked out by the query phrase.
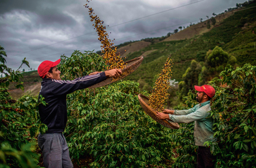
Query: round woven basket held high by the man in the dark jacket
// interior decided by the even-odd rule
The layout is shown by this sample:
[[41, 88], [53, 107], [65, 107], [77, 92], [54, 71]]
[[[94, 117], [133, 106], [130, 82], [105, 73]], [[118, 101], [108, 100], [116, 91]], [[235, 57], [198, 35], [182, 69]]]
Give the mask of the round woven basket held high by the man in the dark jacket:
[[142, 60], [143, 60], [143, 56], [139, 56], [137, 58], [133, 58], [132, 60], [128, 60], [127, 62], [125, 62], [125, 65], [126, 65], [125, 69], [121, 70], [123, 72], [123, 74], [120, 75], [117, 79], [110, 77], [110, 78], [108, 78], [104, 81], [101, 81], [100, 83], [96, 83], [95, 85], [92, 85], [88, 88], [102, 87], [102, 86], [108, 85], [110, 83], [119, 81], [120, 79], [127, 77], [128, 75], [133, 73], [133, 71], [135, 71], [139, 67], [139, 65], [141, 65]]

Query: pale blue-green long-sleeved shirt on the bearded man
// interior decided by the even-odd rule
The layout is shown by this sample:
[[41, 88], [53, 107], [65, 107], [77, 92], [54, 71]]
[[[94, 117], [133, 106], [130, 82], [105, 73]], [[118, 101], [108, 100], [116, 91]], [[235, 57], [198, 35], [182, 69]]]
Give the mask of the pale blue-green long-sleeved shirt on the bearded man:
[[178, 123], [195, 122], [195, 145], [204, 146], [203, 143], [206, 141], [215, 141], [212, 130], [214, 120], [210, 116], [210, 111], [210, 101], [205, 101], [189, 110], [175, 110], [174, 114], [169, 114], [169, 119]]

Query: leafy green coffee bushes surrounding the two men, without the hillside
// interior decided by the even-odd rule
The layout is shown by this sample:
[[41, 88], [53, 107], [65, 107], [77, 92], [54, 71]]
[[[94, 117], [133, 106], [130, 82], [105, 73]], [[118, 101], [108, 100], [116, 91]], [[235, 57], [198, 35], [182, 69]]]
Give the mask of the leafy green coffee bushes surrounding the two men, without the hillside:
[[[199, 65], [193, 60], [185, 76]], [[104, 69], [104, 61], [98, 54], [75, 51], [70, 58], [61, 57], [59, 69], [64, 79], [73, 79], [90, 73], [91, 69]], [[254, 166], [255, 72], [256, 67], [251, 65], [230, 67], [222, 71], [222, 81], [212, 82], [216, 89], [212, 117], [216, 120], [214, 136], [218, 141], [207, 144], [216, 155], [216, 167]], [[219, 87], [220, 81], [230, 87]], [[24, 96], [13, 103], [6, 88], [0, 93], [1, 101], [5, 102], [0, 106], [0, 150], [4, 156], [0, 164], [36, 167], [39, 157], [36, 136], [46, 130], [39, 120], [38, 100]], [[67, 95], [68, 122], [64, 133], [73, 163], [79, 167], [195, 166], [193, 123], [181, 124], [179, 130], [157, 124], [141, 109], [138, 93], [148, 95], [139, 90], [139, 83], [122, 81]], [[46, 103], [41, 100], [40, 103]], [[183, 100], [185, 104], [177, 106], [178, 109], [195, 106], [194, 93], [189, 92]], [[90, 162], [79, 162], [85, 158], [90, 158]]]

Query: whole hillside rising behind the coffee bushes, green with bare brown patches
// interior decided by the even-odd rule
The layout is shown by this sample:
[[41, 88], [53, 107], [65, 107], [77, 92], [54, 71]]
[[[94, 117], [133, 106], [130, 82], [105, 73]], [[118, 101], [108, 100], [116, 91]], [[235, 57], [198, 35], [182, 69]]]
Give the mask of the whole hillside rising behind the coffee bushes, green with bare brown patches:
[[[127, 42], [121, 45], [117, 52], [121, 56], [131, 60], [137, 56], [144, 56], [141, 66], [125, 80], [137, 81], [141, 89], [150, 90], [156, 75], [160, 73], [162, 66], [168, 56], [174, 63], [172, 67], [172, 79], [183, 80], [183, 74], [191, 64], [191, 60], [202, 61], [205, 53], [215, 46], [220, 46], [228, 54], [236, 57], [237, 65], [246, 62], [256, 65], [256, 10], [255, 3], [247, 7], [241, 7], [233, 11], [222, 13], [214, 17], [216, 25], [207, 29], [207, 20], [199, 24], [181, 30], [160, 41], [160, 38]], [[253, 32], [254, 31], [254, 32]], [[159, 42], [160, 41], [160, 42]], [[125, 51], [126, 50], [126, 51]], [[203, 54], [202, 54], [203, 53]], [[35, 77], [35, 78], [34, 78]], [[36, 71], [24, 73], [25, 91], [10, 89], [13, 97], [20, 97], [23, 93], [31, 91], [37, 95], [40, 87]], [[33, 90], [31, 90], [33, 89]]]

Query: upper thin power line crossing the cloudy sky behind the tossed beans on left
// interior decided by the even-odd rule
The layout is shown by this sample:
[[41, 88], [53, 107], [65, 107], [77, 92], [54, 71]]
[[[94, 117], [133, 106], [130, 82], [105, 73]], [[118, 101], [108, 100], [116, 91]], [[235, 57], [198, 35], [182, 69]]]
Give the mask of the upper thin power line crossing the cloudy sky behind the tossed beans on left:
[[[146, 16], [144, 16], [144, 17], [139, 17], [139, 18], [137, 18], [137, 19], [132, 19], [132, 20], [130, 20], [130, 21], [128, 21], [128, 22], [123, 22], [123, 23], [117, 24], [117, 25], [115, 25], [115, 26], [110, 26], [110, 27], [108, 27], [108, 28], [106, 28], [106, 29], [114, 28], [114, 27], [116, 27], [116, 26], [120, 26], [120, 25], [123, 25], [123, 24], [128, 24], [128, 23], [130, 23], [130, 22], [134, 22], [134, 21], [137, 21], [137, 20], [139, 20], [139, 19], [143, 19], [143, 18], [146, 18], [146, 17], [150, 17], [150, 16], [152, 16], [152, 15], [158, 15], [158, 14], [164, 13], [164, 12], [166, 12], [166, 11], [171, 11], [171, 10], [174, 10], [174, 9], [178, 9], [178, 8], [181, 8], [181, 7], [185, 7], [185, 6], [188, 6], [188, 5], [192, 5], [192, 4], [194, 4], [194, 3], [199, 3], [199, 2], [201, 2], [201, 1], [205, 1], [205, 0], [200, 0], [200, 1], [193, 2], [193, 3], [188, 3], [188, 4], [186, 4], [186, 5], [181, 5], [181, 6], [179, 6], [179, 7], [174, 7], [174, 8], [172, 8], [172, 9], [168, 9], [168, 10], [165, 10], [165, 11], [160, 11], [160, 12], [158, 12], [158, 13], [154, 13], [154, 14], [151, 14], [151, 15], [146, 15]], [[74, 39], [74, 38], [79, 38], [79, 37], [81, 37], [81, 36], [86, 36], [86, 35], [92, 34], [92, 33], [94, 33], [94, 32], [89, 32], [89, 33], [87, 33], [87, 34], [82, 34], [82, 35], [80, 35], [80, 36], [75, 36], [75, 37], [69, 38], [69, 39], [67, 39], [67, 40], [71, 40], [71, 39]], [[59, 41], [59, 42], [55, 42], [55, 43], [53, 43], [53, 44], [49, 44], [49, 45], [46, 45], [46, 46], [42, 46], [42, 47], [40, 47], [40, 48], [35, 48], [35, 49], [33, 49], [33, 50], [29, 50], [29, 51], [22, 52], [22, 53], [20, 53], [20, 54], [15, 54], [15, 55], [12, 55], [12, 56], [17, 56], [17, 55], [21, 55], [21, 54], [25, 54], [25, 53], [34, 51], [34, 50], [39, 50], [39, 49], [41, 49], [41, 48], [45, 48], [45, 47], [48, 47], [48, 46], [53, 46], [54, 44], [58, 44], [58, 43], [61, 43], [61, 42], [65, 42], [65, 41], [67, 41], [67, 40], [62, 40], [62, 41]]]

